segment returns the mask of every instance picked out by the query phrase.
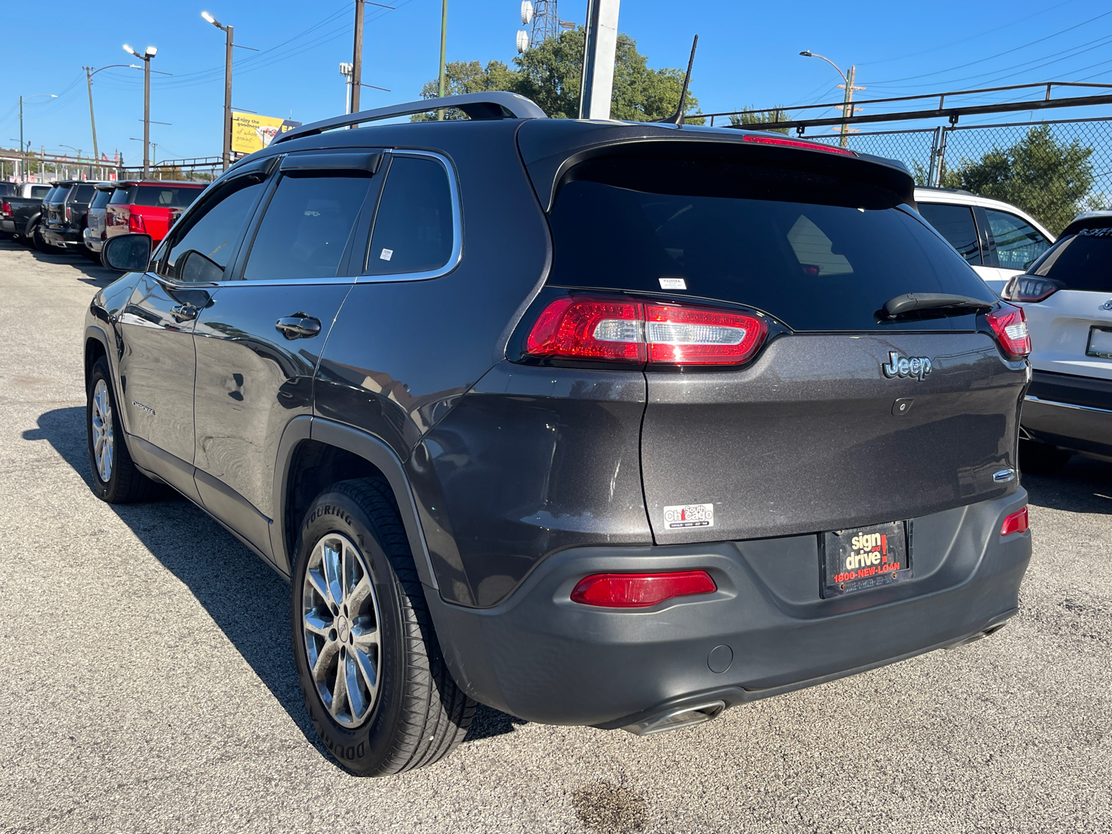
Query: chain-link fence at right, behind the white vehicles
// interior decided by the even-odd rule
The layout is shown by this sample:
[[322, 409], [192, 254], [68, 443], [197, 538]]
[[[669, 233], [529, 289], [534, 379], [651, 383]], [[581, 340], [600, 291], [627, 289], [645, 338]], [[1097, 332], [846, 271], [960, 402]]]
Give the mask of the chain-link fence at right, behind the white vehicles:
[[[837, 133], [805, 138], [841, 142]], [[1112, 119], [861, 131], [847, 147], [900, 160], [920, 186], [1010, 202], [1054, 235], [1112, 205]]]

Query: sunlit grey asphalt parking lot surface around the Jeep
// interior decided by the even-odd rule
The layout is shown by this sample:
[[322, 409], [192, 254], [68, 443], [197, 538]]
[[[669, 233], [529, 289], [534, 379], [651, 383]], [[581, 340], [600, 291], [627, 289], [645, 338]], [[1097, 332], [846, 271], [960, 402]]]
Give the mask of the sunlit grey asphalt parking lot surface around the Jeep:
[[1112, 465], [1024, 478], [989, 639], [634, 737], [492, 709], [387, 780], [316, 742], [288, 589], [185, 499], [88, 486], [82, 316], [111, 275], [0, 241], [0, 831], [1106, 832]]

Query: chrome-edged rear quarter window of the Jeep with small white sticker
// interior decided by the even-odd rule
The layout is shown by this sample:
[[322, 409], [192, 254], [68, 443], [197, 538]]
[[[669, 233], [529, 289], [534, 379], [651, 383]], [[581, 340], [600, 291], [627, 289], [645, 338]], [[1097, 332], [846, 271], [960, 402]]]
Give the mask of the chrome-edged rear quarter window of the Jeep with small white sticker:
[[453, 248], [448, 172], [435, 159], [395, 157], [375, 216], [366, 275], [426, 272]]

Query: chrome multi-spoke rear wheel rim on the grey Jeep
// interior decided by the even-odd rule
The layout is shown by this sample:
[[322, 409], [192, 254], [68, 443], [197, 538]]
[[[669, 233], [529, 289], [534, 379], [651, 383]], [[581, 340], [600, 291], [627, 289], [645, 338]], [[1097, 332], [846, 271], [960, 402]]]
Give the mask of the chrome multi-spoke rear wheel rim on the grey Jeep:
[[338, 533], [322, 536], [305, 572], [302, 635], [317, 694], [345, 727], [366, 722], [378, 699], [380, 623], [363, 554]]

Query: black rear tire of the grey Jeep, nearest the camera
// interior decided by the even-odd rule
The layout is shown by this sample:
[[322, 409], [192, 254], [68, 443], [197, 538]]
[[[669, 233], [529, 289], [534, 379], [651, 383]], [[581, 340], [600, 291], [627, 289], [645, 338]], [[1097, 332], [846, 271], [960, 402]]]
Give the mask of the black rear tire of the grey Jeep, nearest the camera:
[[[378, 689], [366, 718], [357, 726], [345, 726], [329, 712], [312, 677], [308, 639], [317, 641], [314, 651], [320, 651], [320, 657], [344, 655], [326, 655], [319, 648], [325, 637], [314, 636], [305, 625], [306, 595], [311, 594], [306, 587], [310, 559], [322, 539], [337, 534], [358, 550], [377, 597]], [[387, 481], [345, 480], [325, 490], [306, 513], [296, 554], [290, 605], [294, 656], [309, 716], [325, 746], [340, 766], [359, 776], [386, 776], [444, 758], [467, 734], [475, 702], [456, 686], [445, 665]], [[338, 610], [338, 606], [332, 609]], [[314, 610], [328, 616], [327, 608]], [[347, 617], [351, 618], [350, 633], [355, 633], [355, 613], [348, 614], [345, 607], [342, 614], [342, 622], [339, 613], [331, 619], [337, 628], [326, 625], [330, 635], [344, 633]], [[355, 646], [356, 638], [350, 639]], [[354, 668], [350, 658], [355, 655], [347, 657]], [[334, 686], [326, 684], [332, 692]]]

